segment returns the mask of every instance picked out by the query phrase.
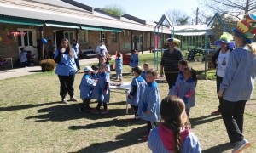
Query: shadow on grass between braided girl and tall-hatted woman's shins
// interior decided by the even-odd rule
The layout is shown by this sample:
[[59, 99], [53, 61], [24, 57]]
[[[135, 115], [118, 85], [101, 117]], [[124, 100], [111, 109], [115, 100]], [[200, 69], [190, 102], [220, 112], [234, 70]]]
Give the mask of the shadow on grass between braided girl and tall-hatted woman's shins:
[[213, 122], [213, 121], [219, 120], [219, 119], [222, 119], [222, 117], [208, 115], [208, 116], [200, 116], [197, 118], [189, 118], [189, 121], [191, 122], [191, 126], [194, 127], [196, 125], [204, 124], [207, 122]]

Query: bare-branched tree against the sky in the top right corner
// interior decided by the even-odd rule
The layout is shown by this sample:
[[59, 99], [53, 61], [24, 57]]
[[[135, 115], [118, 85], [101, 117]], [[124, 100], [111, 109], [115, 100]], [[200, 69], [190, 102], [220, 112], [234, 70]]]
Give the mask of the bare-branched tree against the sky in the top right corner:
[[239, 20], [244, 14], [253, 13], [256, 9], [256, 0], [202, 0], [201, 4], [207, 10], [229, 14]]

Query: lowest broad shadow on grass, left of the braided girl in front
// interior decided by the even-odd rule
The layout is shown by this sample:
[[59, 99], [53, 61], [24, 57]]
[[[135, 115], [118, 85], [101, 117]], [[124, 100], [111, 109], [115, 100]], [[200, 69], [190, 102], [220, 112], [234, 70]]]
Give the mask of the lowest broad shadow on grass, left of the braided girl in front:
[[90, 146], [79, 150], [78, 152], [112, 152], [119, 148], [124, 148], [134, 144], [144, 143], [143, 133], [146, 127], [134, 128], [127, 133], [118, 135], [116, 141], [107, 141], [102, 143], [91, 144]]

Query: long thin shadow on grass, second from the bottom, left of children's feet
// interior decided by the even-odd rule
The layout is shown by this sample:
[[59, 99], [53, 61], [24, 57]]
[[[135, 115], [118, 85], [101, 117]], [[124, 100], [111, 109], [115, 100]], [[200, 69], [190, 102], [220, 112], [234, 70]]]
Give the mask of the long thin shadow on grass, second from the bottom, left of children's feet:
[[134, 120], [131, 118], [128, 119], [117, 119], [114, 118], [113, 120], [110, 121], [104, 121], [104, 122], [96, 122], [92, 124], [88, 124], [85, 126], [70, 126], [69, 129], [72, 130], [79, 130], [79, 129], [90, 129], [90, 128], [98, 128], [98, 127], [129, 127], [132, 125], [145, 125], [145, 130], [146, 130], [146, 122], [143, 120]]

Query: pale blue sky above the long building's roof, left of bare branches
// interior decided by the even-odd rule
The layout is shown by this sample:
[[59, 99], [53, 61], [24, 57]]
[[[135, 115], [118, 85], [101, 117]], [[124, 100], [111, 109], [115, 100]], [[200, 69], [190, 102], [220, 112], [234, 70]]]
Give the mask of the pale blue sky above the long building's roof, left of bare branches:
[[75, 0], [93, 8], [104, 8], [109, 5], [120, 6], [126, 14], [131, 14], [142, 20], [158, 21], [162, 14], [172, 8], [193, 14], [198, 6], [198, 0]]

